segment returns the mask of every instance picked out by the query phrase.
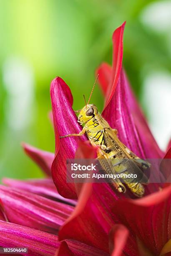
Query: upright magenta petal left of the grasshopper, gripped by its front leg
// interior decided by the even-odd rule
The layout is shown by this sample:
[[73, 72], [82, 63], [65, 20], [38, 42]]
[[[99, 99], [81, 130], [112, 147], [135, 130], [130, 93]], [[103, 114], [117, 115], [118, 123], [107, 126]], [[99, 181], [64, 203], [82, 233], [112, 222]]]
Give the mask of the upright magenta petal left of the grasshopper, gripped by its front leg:
[[66, 182], [66, 159], [74, 158], [79, 141], [85, 140], [86, 137], [59, 139], [59, 135], [79, 133], [82, 128], [72, 109], [73, 97], [70, 89], [63, 79], [56, 77], [52, 81], [50, 95], [55, 130], [55, 159], [52, 164], [52, 177], [60, 195], [76, 199], [75, 185]]

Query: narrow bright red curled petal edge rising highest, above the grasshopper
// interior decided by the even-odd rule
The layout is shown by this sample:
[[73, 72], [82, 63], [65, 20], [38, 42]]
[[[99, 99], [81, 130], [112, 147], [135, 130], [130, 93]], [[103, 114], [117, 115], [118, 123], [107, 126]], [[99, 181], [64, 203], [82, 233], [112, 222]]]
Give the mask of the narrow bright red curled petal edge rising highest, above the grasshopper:
[[122, 59], [123, 59], [123, 31], [125, 27], [126, 21], [117, 28], [112, 36], [113, 41], [113, 64], [112, 64], [112, 76], [111, 76], [111, 84], [108, 87], [106, 92], [106, 102], [105, 107], [111, 101], [113, 94], [116, 90], [116, 85], [118, 84], [119, 75], [122, 68]]

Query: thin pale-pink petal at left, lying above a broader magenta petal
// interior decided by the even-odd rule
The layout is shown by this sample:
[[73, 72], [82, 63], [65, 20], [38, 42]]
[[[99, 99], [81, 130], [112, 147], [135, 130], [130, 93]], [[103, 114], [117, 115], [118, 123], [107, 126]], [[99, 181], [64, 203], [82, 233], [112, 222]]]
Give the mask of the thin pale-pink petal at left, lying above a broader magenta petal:
[[65, 202], [70, 205], [76, 205], [76, 200], [62, 197], [58, 192], [51, 178], [47, 179], [9, 179], [3, 178], [3, 183], [10, 187], [23, 189], [43, 197], [50, 198], [52, 200]]

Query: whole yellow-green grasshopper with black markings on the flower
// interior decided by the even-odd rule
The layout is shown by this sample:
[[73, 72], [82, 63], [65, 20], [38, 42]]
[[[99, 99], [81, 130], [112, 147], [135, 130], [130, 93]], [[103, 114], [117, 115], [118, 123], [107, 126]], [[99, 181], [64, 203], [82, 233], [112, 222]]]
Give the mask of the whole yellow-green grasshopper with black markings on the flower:
[[[96, 78], [96, 81], [97, 79], [98, 77]], [[93, 85], [93, 89], [96, 81]], [[93, 89], [91, 91], [91, 95]], [[85, 101], [85, 106], [81, 110], [75, 111], [75, 113], [79, 113], [78, 122], [81, 125], [84, 125], [82, 131], [78, 134], [75, 133], [60, 136], [60, 138], [82, 136], [86, 133], [91, 144], [93, 146], [98, 146], [97, 156], [104, 172], [107, 174], [138, 174], [137, 176], [143, 177], [143, 179], [141, 179], [143, 181], [142, 183], [148, 183], [148, 179], [141, 169], [148, 169], [150, 164], [136, 156], [118, 139], [118, 131], [110, 127], [108, 122], [100, 113], [98, 113], [98, 109], [95, 105], [89, 104], [91, 95], [88, 102], [86, 103]], [[123, 183], [126, 184], [131, 192], [137, 197], [142, 197], [144, 195], [144, 186], [138, 181], [138, 179], [126, 178], [123, 179], [123, 182], [118, 178], [115, 179], [115, 181], [113, 180], [113, 186], [118, 190], [118, 192], [126, 192], [126, 187]]]

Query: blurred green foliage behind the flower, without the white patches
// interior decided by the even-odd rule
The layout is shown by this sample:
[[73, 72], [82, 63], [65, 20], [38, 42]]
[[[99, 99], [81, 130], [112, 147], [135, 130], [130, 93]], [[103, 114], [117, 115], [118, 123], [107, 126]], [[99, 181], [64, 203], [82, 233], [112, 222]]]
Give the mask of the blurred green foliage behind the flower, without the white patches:
[[[111, 64], [113, 31], [127, 21], [123, 64], [138, 97], [143, 74], [152, 69], [171, 71], [164, 33], [154, 32], [140, 21], [149, 0], [10, 0], [0, 1], [0, 176], [42, 177], [23, 154], [20, 141], [54, 151], [53, 128], [48, 120], [50, 82], [62, 77], [70, 86], [74, 109], [88, 98], [94, 72], [102, 61]], [[11, 57], [24, 60], [33, 70], [33, 118], [14, 130], [7, 120], [9, 91], [4, 63]], [[96, 87], [93, 103], [100, 110], [103, 97]], [[32, 115], [31, 115], [32, 116]], [[19, 118], [19, 117], [18, 117]], [[18, 122], [16, 118], [15, 122]]]

